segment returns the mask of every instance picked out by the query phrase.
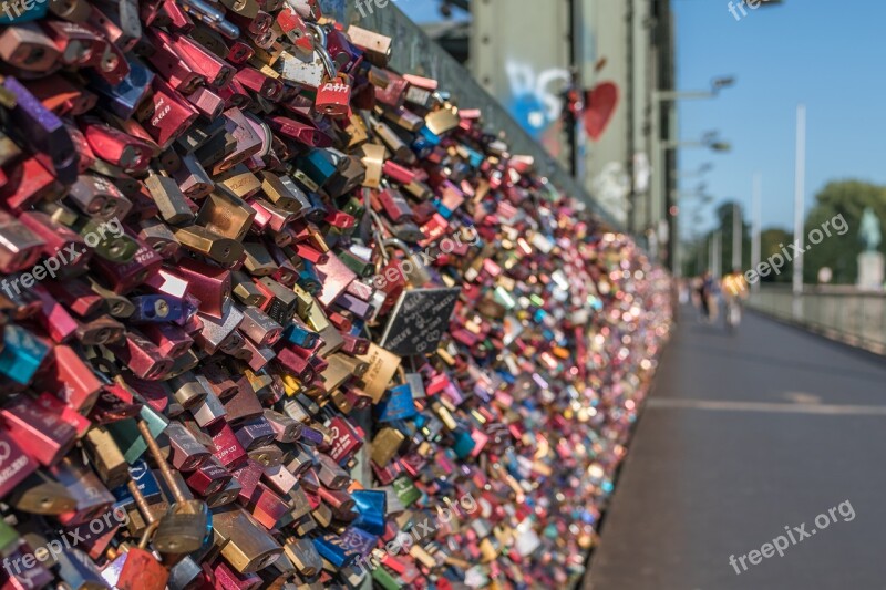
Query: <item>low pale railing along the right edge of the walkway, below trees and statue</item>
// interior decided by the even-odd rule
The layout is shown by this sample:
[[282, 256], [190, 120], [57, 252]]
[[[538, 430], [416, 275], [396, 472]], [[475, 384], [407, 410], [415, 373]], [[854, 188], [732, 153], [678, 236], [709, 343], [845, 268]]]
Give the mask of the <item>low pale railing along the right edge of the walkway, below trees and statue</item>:
[[749, 306], [833, 340], [886, 354], [886, 293], [807, 286], [800, 299], [796, 318], [790, 286], [761, 286]]

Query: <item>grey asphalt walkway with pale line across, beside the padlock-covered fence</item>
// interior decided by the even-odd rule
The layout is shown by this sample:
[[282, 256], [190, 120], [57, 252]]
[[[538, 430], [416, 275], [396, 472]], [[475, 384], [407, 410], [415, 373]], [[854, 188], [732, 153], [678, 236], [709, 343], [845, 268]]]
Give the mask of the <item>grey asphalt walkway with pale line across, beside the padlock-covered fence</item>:
[[[886, 361], [761, 315], [734, 337], [682, 318], [585, 587], [886, 589]], [[786, 526], [796, 545], [745, 571]]]

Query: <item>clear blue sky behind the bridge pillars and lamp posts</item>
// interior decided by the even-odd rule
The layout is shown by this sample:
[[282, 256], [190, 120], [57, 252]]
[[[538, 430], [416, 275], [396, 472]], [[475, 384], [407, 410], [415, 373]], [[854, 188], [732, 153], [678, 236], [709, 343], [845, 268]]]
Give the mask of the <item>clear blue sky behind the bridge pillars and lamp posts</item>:
[[[704, 176], [715, 197], [750, 211], [754, 172], [763, 174], [763, 226], [792, 227], [795, 111], [807, 110], [806, 203], [831, 179], [886, 184], [886, 2], [785, 0], [745, 9], [736, 21], [728, 0], [672, 0], [678, 30], [678, 90], [702, 90], [733, 75], [736, 84], [709, 101], [680, 103], [680, 138], [715, 130], [729, 154], [684, 149], [681, 169], [714, 165]], [[418, 22], [439, 20], [434, 0], [398, 0]], [[687, 178], [684, 189], [698, 184]], [[692, 208], [691, 206], [689, 207]], [[684, 219], [689, 217], [686, 216]]]

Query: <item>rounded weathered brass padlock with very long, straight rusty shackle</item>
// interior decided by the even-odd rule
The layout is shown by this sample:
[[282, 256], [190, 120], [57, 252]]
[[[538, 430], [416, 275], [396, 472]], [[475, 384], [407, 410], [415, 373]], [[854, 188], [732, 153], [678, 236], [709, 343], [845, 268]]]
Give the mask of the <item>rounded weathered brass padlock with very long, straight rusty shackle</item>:
[[138, 432], [147, 444], [154, 462], [159, 467], [163, 479], [173, 493], [175, 504], [169, 507], [169, 513], [164, 516], [154, 535], [154, 547], [164, 553], [189, 553], [203, 546], [206, 537], [208, 513], [206, 503], [188, 500], [182, 491], [178, 482], [172, 474], [169, 465], [163, 457], [159, 445], [154, 439], [147, 424], [138, 422]]

